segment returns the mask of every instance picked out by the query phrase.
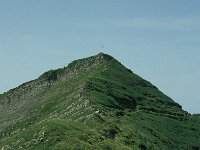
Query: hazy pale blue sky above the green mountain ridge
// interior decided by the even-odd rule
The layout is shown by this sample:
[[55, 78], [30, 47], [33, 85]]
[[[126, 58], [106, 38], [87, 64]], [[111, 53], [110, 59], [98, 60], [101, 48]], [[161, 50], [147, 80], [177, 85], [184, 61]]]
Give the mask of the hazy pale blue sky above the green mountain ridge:
[[0, 0], [0, 93], [102, 51], [200, 113], [199, 7], [199, 0]]

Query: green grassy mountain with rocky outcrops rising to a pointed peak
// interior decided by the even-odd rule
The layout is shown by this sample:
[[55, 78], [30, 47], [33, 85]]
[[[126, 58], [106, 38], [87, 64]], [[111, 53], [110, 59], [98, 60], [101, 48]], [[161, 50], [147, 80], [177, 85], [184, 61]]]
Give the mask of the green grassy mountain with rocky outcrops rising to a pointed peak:
[[0, 149], [199, 150], [200, 115], [100, 53], [1, 94]]

